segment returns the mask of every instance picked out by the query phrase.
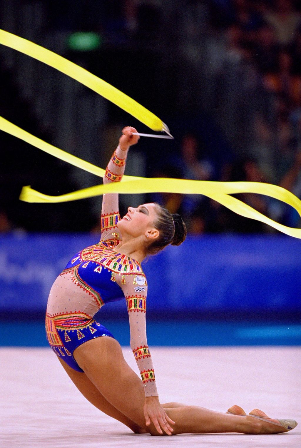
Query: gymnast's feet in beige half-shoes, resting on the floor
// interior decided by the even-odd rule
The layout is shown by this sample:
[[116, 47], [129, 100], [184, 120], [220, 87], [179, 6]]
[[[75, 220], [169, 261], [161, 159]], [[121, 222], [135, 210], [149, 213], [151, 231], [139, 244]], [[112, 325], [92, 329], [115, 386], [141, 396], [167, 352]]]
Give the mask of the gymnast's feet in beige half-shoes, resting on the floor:
[[[259, 425], [256, 429], [257, 434], [278, 434], [280, 432], [288, 432], [297, 426], [297, 422], [292, 419], [275, 419], [269, 418], [260, 409], [253, 409], [249, 415], [238, 405], [233, 405], [228, 409], [227, 414], [241, 415], [246, 417], [246, 422], [251, 418], [257, 418]], [[251, 422], [250, 422], [251, 423]]]

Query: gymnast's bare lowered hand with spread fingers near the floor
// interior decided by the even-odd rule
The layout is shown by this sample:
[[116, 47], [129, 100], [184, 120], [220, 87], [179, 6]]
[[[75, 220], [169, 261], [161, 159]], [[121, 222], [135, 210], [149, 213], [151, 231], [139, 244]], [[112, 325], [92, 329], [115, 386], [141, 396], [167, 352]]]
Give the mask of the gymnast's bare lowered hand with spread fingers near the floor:
[[[154, 423], [156, 430], [159, 434], [163, 434], [162, 429], [168, 435], [172, 435], [172, 426], [169, 423], [175, 425], [175, 422], [165, 412], [165, 409], [160, 405], [158, 396], [146, 396], [143, 406], [143, 412], [145, 416], [146, 426], [150, 423]], [[161, 429], [162, 428], [162, 429]]]

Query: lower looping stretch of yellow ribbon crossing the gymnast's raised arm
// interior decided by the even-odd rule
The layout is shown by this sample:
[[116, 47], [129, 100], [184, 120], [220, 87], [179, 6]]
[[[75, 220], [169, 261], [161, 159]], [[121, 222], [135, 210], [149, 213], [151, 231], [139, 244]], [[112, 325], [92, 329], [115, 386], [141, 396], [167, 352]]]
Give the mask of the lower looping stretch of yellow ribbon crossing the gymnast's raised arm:
[[[103, 177], [104, 170], [74, 155], [68, 154], [49, 143], [44, 142], [40, 138], [24, 131], [13, 123], [0, 117], [0, 129], [20, 138], [27, 143], [54, 155], [78, 168], [82, 168], [96, 176]], [[271, 184], [263, 184], [260, 182], [214, 182], [214, 181], [193, 181], [186, 179], [169, 179], [169, 178], [149, 178], [124, 176], [121, 182], [112, 182], [106, 185], [96, 185], [94, 187], [85, 188], [60, 196], [49, 196], [39, 193], [36, 190], [26, 186], [22, 188], [20, 199], [25, 202], [67, 202], [77, 199], [90, 198], [104, 193], [182, 193], [182, 194], [203, 194], [208, 198], [214, 199], [238, 215], [246, 218], [255, 219], [274, 227], [280, 232], [286, 233], [291, 237], [301, 238], [301, 229], [290, 228], [282, 224], [276, 223], [265, 215], [254, 210], [249, 205], [237, 198], [229, 196], [229, 194], [237, 193], [258, 193], [279, 199], [294, 207], [301, 216], [301, 201], [294, 194], [290, 193], [282, 187]]]

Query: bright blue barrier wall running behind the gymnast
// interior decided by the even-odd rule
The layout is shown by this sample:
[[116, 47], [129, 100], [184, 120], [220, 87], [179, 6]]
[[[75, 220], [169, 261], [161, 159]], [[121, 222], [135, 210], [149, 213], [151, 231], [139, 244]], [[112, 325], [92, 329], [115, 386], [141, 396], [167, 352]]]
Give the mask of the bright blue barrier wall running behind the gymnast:
[[[56, 276], [91, 234], [0, 237], [0, 313], [44, 312]], [[301, 241], [285, 236], [187, 237], [143, 264], [147, 309], [169, 312], [301, 310]], [[116, 314], [125, 301], [104, 307]], [[105, 310], [103, 310], [105, 311]], [[102, 310], [100, 312], [103, 312]]]

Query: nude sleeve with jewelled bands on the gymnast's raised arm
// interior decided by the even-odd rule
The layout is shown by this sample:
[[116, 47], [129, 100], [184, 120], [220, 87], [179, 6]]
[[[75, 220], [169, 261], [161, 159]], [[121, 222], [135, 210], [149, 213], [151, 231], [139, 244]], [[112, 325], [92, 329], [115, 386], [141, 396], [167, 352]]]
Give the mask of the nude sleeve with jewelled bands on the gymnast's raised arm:
[[[114, 151], [103, 177], [103, 183], [120, 182], [125, 172], [125, 162], [128, 151], [122, 151], [117, 146]], [[103, 206], [101, 211], [101, 240], [117, 237], [114, 235], [116, 224], [120, 220], [118, 193], [103, 195]]]

